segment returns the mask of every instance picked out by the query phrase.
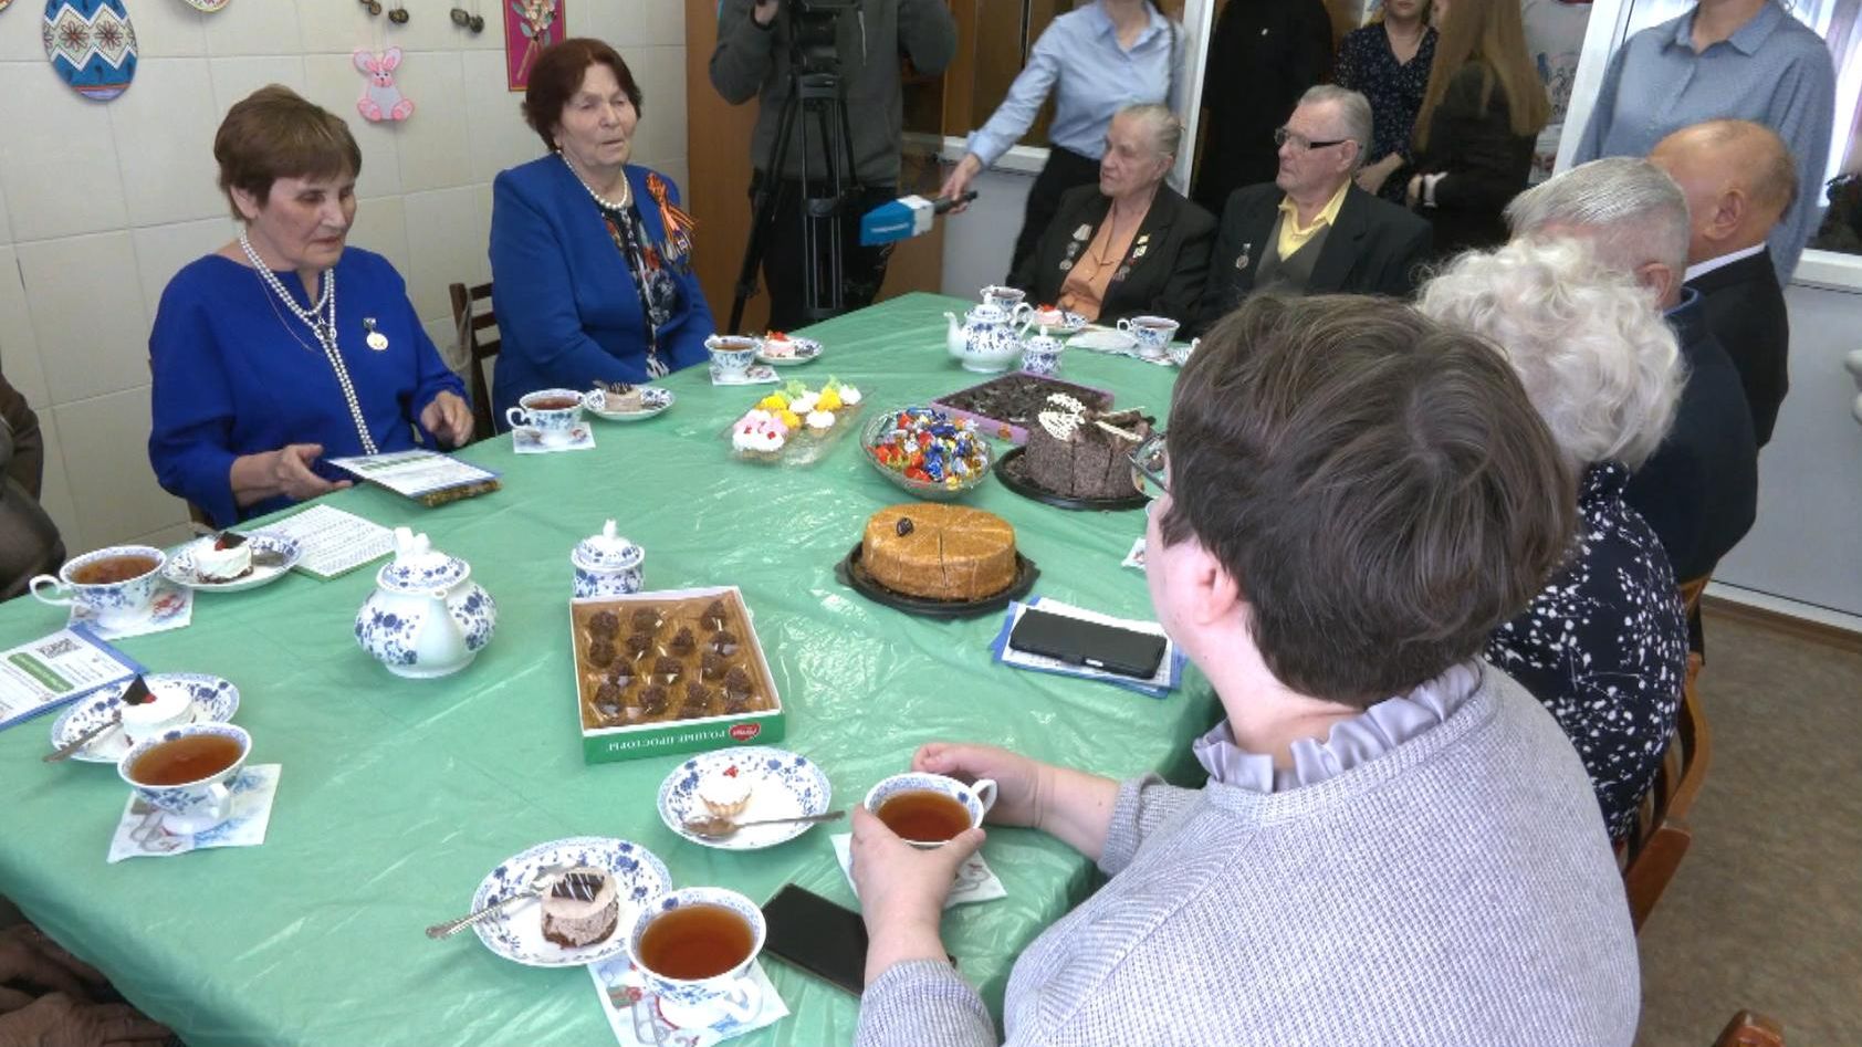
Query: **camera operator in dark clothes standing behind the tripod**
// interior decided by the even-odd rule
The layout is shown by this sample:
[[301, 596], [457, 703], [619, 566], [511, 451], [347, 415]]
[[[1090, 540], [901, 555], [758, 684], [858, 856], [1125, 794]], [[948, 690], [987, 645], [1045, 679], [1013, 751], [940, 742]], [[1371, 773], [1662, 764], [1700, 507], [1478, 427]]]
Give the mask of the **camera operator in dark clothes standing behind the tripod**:
[[[851, 127], [853, 207], [842, 211], [842, 296], [847, 309], [871, 304], [886, 278], [890, 246], [862, 248], [860, 214], [897, 197], [899, 136], [903, 127], [899, 58], [924, 75], [942, 73], [957, 52], [957, 24], [944, 0], [724, 0], [717, 15], [711, 86], [732, 104], [758, 99], [750, 136], [752, 199], [763, 179], [776, 177], [771, 229], [763, 240], [763, 283], [769, 287], [769, 324], [789, 330], [806, 322], [803, 266], [823, 272], [827, 259], [803, 257], [803, 127], [789, 142], [780, 171], [763, 170], [776, 140], [776, 123], [789, 97], [789, 67], [797, 28], [803, 43], [819, 34], [821, 71], [840, 75]], [[832, 35], [832, 56], [827, 39]], [[803, 50], [814, 52], [804, 47]], [[838, 60], [836, 60], [838, 58]], [[801, 123], [801, 119], [797, 119]], [[827, 173], [819, 127], [808, 121], [808, 175]], [[819, 190], [819, 186], [817, 186]], [[825, 298], [825, 294], [823, 294]]]

